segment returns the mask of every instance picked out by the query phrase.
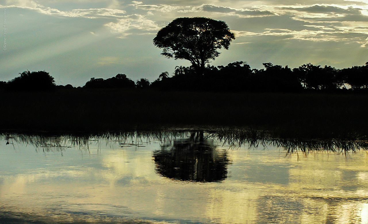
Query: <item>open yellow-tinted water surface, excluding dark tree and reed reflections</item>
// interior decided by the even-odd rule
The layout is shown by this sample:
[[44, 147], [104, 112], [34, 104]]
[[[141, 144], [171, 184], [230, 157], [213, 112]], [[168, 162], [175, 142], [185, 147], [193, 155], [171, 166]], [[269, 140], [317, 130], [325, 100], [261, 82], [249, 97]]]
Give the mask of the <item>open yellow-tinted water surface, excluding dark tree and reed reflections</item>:
[[47, 157], [30, 145], [19, 144], [16, 153], [0, 145], [0, 164], [7, 166], [0, 173], [0, 210], [92, 223], [103, 216], [162, 223], [368, 224], [365, 151], [297, 155], [270, 145], [217, 146], [211, 155], [226, 151], [227, 178], [206, 183], [159, 175], [152, 152], [163, 145], [118, 143], [90, 144], [100, 153], [83, 157], [77, 147]]

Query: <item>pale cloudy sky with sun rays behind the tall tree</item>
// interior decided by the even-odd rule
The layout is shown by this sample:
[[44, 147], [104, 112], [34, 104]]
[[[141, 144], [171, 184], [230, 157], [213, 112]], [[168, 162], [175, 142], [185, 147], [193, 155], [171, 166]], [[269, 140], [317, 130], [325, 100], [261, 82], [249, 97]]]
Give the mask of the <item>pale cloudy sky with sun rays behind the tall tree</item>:
[[[225, 21], [236, 39], [210, 65], [243, 61], [330, 65], [368, 61], [368, 0], [0, 0], [0, 81], [46, 71], [58, 85], [84, 86], [118, 73], [153, 82], [185, 60], [165, 58], [152, 40], [178, 17]], [[6, 7], [6, 8], [4, 8]], [[6, 18], [6, 19], [5, 19]]]

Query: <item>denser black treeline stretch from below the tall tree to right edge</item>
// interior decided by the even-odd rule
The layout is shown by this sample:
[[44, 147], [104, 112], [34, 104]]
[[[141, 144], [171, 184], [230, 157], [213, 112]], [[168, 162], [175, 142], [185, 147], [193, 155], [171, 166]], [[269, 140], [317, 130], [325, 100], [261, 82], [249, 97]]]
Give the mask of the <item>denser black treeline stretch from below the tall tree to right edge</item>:
[[208, 66], [204, 75], [190, 67], [176, 67], [175, 75], [161, 74], [150, 87], [173, 90], [301, 92], [301, 91], [367, 91], [368, 62], [364, 66], [336, 69], [331, 66], [305, 64], [288, 66], [264, 63], [264, 69], [251, 69], [243, 62], [226, 66]]

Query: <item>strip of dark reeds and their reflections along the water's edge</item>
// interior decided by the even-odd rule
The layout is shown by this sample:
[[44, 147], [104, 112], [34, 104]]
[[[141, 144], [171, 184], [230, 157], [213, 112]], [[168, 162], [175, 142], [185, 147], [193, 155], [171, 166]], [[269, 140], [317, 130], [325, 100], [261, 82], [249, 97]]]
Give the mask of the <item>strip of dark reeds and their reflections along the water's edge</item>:
[[[206, 152], [205, 150], [209, 152], [213, 151], [217, 155], [219, 151], [213, 148], [211, 141], [229, 146], [230, 148], [259, 148], [260, 146], [284, 148], [286, 155], [301, 152], [307, 156], [309, 152], [314, 151], [330, 151], [346, 154], [347, 152], [354, 153], [361, 149], [368, 149], [366, 136], [334, 139], [279, 138], [271, 132], [255, 129], [132, 131], [98, 134], [78, 133], [77, 135], [39, 134], [0, 133], [0, 137], [5, 140], [6, 145], [19, 142], [21, 144], [33, 145], [36, 148], [42, 148], [43, 151], [50, 151], [51, 149], [60, 150], [70, 147], [78, 147], [81, 150], [88, 151], [91, 142], [101, 141], [106, 141], [106, 144], [111, 144], [111, 147], [116, 142], [122, 144], [135, 142], [137, 145], [142, 142], [146, 142], [147, 144], [155, 141], [171, 142], [172, 149], [170, 145], [166, 145], [158, 152], [162, 151], [162, 153], [165, 152], [167, 154], [169, 151], [177, 148], [178, 152], [176, 153], [180, 151], [180, 155], [183, 154], [181, 151], [189, 152], [185, 148], [193, 148], [194, 151], [199, 152]], [[178, 138], [180, 140], [177, 140]]]

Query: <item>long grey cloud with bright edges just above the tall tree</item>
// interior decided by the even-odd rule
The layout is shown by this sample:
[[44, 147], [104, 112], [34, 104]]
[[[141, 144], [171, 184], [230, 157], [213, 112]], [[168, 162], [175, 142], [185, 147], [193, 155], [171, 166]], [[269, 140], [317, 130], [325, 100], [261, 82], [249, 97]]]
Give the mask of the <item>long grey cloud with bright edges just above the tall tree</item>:
[[269, 10], [259, 10], [259, 9], [236, 9], [224, 6], [215, 6], [212, 4], [202, 4], [198, 7], [192, 7], [191, 10], [181, 10], [179, 12], [216, 12], [227, 15], [236, 15], [238, 17], [263, 17], [275, 15], [275, 13]]

